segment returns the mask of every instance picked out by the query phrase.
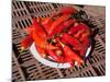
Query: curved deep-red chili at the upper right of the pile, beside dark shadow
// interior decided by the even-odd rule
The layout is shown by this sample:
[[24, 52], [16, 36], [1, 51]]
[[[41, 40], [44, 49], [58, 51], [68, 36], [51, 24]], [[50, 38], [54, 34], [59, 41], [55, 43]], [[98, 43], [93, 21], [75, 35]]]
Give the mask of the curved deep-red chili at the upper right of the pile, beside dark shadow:
[[73, 27], [69, 30], [68, 34], [75, 34], [76, 32], [78, 32], [78, 31], [80, 31], [80, 30], [85, 30], [85, 31], [89, 32], [88, 26], [80, 23], [80, 24], [78, 24], [78, 25], [76, 25], [76, 26], [73, 26]]

